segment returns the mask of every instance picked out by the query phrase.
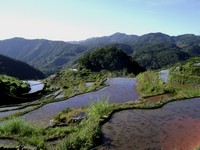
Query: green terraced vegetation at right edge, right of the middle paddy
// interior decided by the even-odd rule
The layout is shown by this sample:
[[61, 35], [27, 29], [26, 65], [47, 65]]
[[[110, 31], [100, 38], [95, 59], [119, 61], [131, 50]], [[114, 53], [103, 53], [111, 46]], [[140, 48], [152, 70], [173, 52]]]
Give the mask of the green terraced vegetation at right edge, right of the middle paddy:
[[174, 93], [175, 99], [200, 96], [200, 59], [170, 69], [168, 82], [164, 83], [156, 71], [147, 71], [137, 76], [138, 91], [143, 97]]

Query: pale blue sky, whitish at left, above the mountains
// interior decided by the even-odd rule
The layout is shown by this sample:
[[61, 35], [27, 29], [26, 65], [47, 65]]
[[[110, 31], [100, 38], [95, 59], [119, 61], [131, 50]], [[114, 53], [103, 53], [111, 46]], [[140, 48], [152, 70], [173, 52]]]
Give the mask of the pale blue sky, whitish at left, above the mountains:
[[200, 35], [200, 0], [0, 0], [0, 39]]

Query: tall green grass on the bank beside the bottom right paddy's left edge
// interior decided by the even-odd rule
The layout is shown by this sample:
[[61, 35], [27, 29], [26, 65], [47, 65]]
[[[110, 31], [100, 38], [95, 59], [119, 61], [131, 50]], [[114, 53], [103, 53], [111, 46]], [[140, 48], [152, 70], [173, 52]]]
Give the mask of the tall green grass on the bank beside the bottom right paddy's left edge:
[[114, 109], [108, 100], [98, 100], [88, 108], [88, 119], [81, 122], [79, 129], [71, 133], [58, 149], [90, 149], [98, 144], [101, 136], [100, 119]]

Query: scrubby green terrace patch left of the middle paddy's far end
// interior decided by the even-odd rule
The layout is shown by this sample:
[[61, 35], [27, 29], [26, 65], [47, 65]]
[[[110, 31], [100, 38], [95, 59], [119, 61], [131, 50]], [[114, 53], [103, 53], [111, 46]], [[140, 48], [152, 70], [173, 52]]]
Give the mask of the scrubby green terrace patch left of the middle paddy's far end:
[[[60, 89], [65, 97], [72, 97], [85, 92], [98, 90], [104, 86], [107, 80], [107, 72], [90, 72], [89, 70], [63, 70], [46, 79], [50, 88]], [[86, 84], [91, 82], [91, 86]]]

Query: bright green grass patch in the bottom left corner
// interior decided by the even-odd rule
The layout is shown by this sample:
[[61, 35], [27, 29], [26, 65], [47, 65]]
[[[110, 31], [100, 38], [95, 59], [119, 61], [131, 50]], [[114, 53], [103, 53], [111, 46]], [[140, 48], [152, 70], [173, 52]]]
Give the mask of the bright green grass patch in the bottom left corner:
[[38, 149], [47, 149], [47, 142], [51, 139], [59, 139], [74, 132], [76, 127], [66, 126], [62, 128], [48, 128], [34, 126], [19, 119], [11, 119], [0, 126], [0, 136], [10, 137], [18, 141], [19, 145], [35, 146]]

